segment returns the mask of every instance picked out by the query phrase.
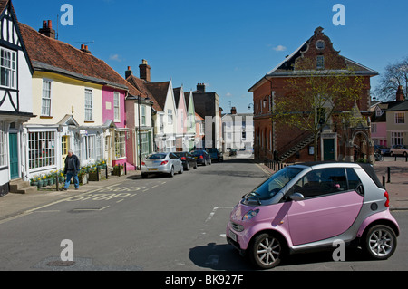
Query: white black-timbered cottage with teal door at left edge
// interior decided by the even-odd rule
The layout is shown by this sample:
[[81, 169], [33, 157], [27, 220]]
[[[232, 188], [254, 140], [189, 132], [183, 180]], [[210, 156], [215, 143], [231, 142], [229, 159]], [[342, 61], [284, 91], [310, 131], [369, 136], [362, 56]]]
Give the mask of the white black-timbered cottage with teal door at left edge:
[[[0, 196], [26, 167], [23, 123], [33, 117], [32, 73], [11, 0], [0, 0]], [[17, 192], [17, 191], [15, 191]]]

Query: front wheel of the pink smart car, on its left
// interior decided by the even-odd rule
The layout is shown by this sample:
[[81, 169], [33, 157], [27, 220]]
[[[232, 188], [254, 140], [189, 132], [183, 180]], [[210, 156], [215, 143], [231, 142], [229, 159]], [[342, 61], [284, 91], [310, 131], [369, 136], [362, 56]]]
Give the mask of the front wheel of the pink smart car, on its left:
[[279, 265], [284, 245], [279, 237], [264, 233], [258, 235], [249, 251], [249, 258], [261, 269], [271, 269]]

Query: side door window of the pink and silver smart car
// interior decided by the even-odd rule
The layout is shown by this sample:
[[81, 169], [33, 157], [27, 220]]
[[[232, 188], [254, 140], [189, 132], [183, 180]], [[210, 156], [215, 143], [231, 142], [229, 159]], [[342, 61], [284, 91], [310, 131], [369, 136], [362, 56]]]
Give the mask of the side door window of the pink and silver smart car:
[[298, 180], [291, 193], [300, 193], [306, 199], [344, 192], [347, 188], [344, 168], [314, 169]]

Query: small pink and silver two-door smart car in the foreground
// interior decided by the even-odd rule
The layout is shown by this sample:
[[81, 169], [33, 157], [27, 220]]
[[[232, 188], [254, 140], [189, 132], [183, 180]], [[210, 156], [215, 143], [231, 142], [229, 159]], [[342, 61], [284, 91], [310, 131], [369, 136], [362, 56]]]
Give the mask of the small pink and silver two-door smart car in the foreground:
[[333, 248], [338, 240], [387, 259], [398, 235], [388, 192], [373, 167], [340, 162], [279, 170], [243, 196], [227, 227], [228, 243], [263, 269], [287, 253]]

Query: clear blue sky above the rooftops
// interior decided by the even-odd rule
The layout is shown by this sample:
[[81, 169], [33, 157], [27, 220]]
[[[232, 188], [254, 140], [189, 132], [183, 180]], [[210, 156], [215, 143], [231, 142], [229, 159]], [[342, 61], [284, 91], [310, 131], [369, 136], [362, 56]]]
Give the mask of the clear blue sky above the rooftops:
[[[206, 83], [224, 112], [251, 112], [248, 89], [309, 39], [317, 27], [340, 54], [380, 73], [408, 57], [406, 0], [12, 0], [19, 22], [52, 20], [58, 39], [92, 54], [124, 77], [151, 65], [151, 82], [185, 92]], [[63, 23], [72, 6], [72, 25]], [[335, 25], [336, 4], [344, 25]], [[58, 19], [60, 21], [58, 21]]]

